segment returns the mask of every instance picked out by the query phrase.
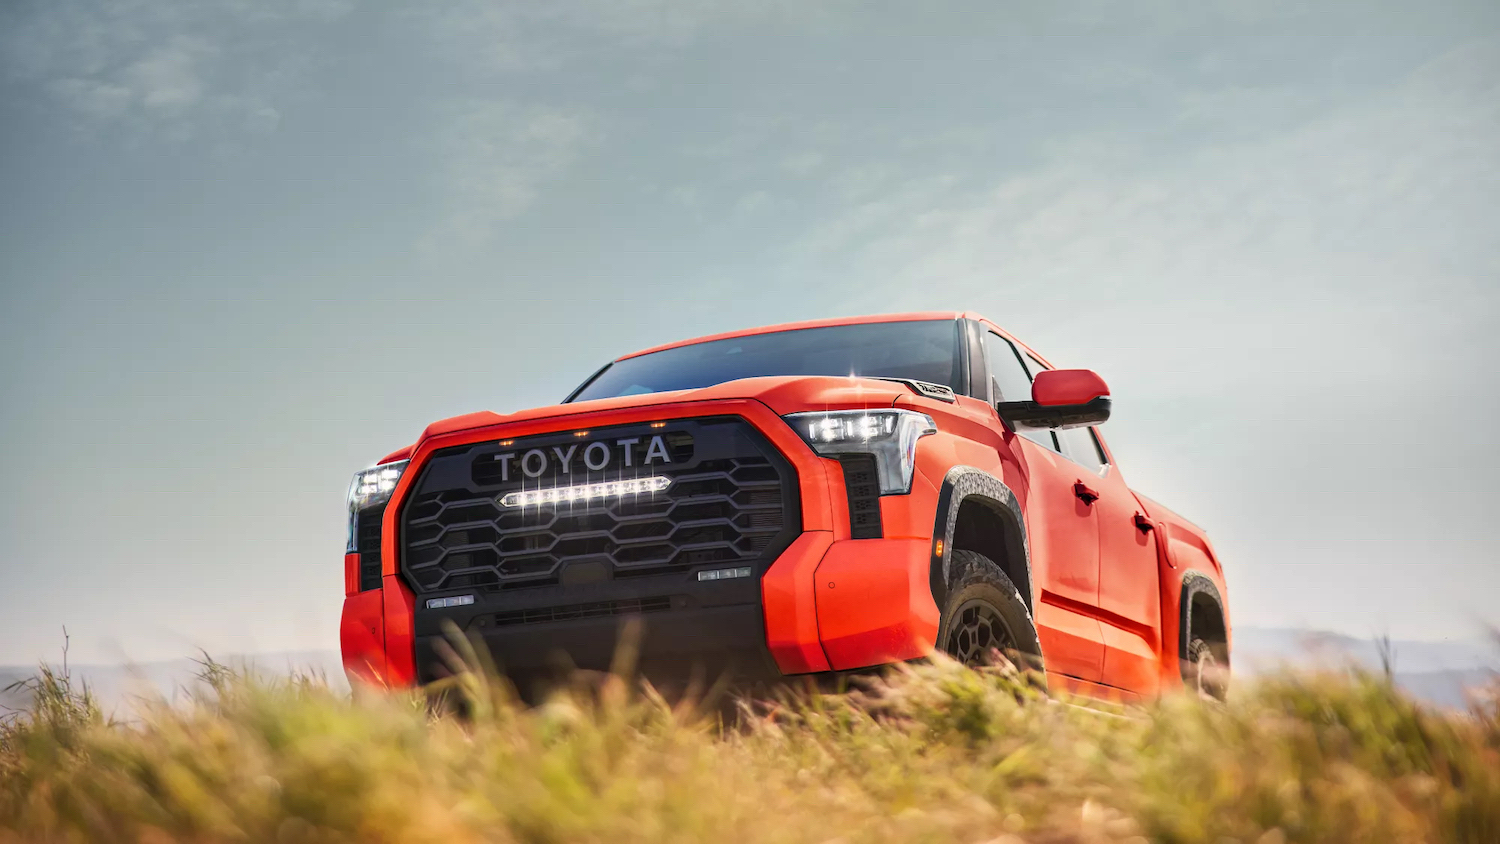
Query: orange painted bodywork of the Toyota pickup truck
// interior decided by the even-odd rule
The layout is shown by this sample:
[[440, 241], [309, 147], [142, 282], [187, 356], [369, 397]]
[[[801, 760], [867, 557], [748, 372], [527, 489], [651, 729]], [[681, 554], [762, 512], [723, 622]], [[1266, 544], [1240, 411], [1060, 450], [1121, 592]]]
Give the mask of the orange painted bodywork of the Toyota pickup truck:
[[[976, 319], [981, 330], [1016, 342], [978, 316], [942, 312], [774, 325], [626, 357], [790, 328], [960, 318]], [[1023, 354], [1035, 354], [1016, 345]], [[1068, 403], [1098, 393], [1102, 382], [1089, 376], [1048, 376], [1048, 400]], [[928, 414], [938, 433], [918, 441], [910, 493], [879, 499], [882, 538], [852, 540], [843, 466], [816, 456], [782, 417], [892, 406]], [[434, 453], [477, 442], [508, 445], [543, 433], [573, 432], [582, 438], [610, 426], [662, 429], [670, 420], [696, 417], [748, 421], [795, 469], [802, 532], [760, 579], [765, 645], [784, 675], [858, 669], [932, 651], [940, 621], [933, 573], [940, 577], [942, 561], [954, 552], [952, 537], [934, 528], [946, 523], [946, 516], [939, 519], [944, 484], [960, 466], [1004, 483], [1023, 514], [1030, 579], [1023, 598], [1030, 604], [1047, 670], [1060, 688], [1128, 700], [1180, 687], [1182, 577], [1196, 573], [1227, 595], [1218, 559], [1202, 531], [1136, 496], [1118, 466], [1094, 474], [1018, 436], [984, 397], [942, 402], [902, 384], [862, 378], [748, 378], [508, 415], [466, 414], [432, 423], [414, 445], [387, 456], [382, 462], [410, 459], [411, 465], [386, 508], [382, 588], [358, 592], [358, 555], [345, 556], [340, 642], [350, 675], [384, 685], [417, 682], [416, 597], [398, 571], [398, 514]], [[1102, 438], [1100, 447], [1108, 456]], [[1092, 493], [1090, 501], [1077, 495], [1080, 486]]]

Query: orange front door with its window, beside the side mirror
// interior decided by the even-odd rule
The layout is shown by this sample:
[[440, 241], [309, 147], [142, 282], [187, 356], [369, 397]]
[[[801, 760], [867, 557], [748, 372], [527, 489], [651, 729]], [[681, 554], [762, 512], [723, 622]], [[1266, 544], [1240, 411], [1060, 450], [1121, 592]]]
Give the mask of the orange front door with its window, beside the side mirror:
[[[990, 405], [1030, 399], [1030, 372], [1010, 340], [987, 331]], [[996, 421], [999, 424], [999, 421]], [[1074, 493], [1077, 469], [1050, 430], [1010, 435], [1026, 468], [1024, 490], [1016, 490], [1026, 514], [1034, 619], [1048, 672], [1101, 682], [1104, 648], [1094, 618], [1100, 597], [1100, 534], [1094, 510]]]

